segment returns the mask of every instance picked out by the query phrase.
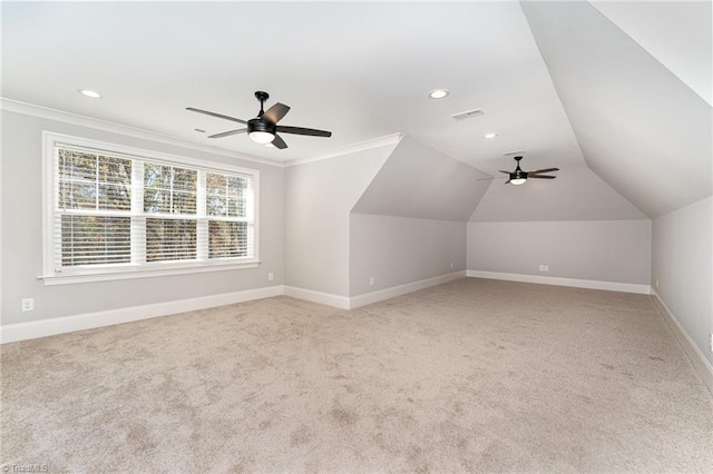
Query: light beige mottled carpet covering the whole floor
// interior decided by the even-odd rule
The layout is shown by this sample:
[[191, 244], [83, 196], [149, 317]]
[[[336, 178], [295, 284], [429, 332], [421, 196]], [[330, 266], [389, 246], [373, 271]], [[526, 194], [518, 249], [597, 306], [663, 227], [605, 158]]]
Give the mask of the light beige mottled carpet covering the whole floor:
[[2, 347], [3, 466], [711, 472], [713, 398], [649, 297], [463, 278]]

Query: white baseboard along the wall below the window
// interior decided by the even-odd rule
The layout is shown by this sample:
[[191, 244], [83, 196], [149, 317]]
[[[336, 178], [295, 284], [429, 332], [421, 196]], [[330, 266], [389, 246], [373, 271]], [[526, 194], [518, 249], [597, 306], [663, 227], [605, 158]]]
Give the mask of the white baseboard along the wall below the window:
[[94, 329], [97, 327], [113, 326], [115, 324], [193, 312], [196, 309], [232, 305], [253, 299], [270, 298], [272, 296], [282, 295], [284, 289], [282, 285], [276, 285], [246, 289], [243, 292], [203, 296], [198, 298], [156, 303], [153, 305], [86, 313], [82, 315], [33, 320], [29, 323], [9, 324], [0, 326], [0, 343], [6, 344], [17, 340], [35, 339], [37, 337], [52, 336], [56, 334], [74, 333], [76, 330]]

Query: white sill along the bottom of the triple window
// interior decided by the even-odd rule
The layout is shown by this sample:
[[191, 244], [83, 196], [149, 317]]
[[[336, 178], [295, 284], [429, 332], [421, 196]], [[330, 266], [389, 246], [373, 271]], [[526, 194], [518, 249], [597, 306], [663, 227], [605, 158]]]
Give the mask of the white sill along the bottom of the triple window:
[[172, 275], [193, 275], [208, 271], [228, 271], [241, 270], [246, 268], [257, 268], [260, 266], [258, 260], [229, 263], [229, 264], [194, 264], [194, 265], [180, 265], [172, 266], [167, 268], [141, 268], [141, 269], [126, 269], [120, 271], [113, 270], [98, 270], [96, 273], [82, 271], [80, 274], [64, 274], [64, 275], [43, 275], [38, 279], [45, 282], [45, 286], [55, 285], [71, 285], [79, 283], [95, 283], [95, 282], [111, 282], [119, 279], [133, 279], [133, 278], [154, 278]]

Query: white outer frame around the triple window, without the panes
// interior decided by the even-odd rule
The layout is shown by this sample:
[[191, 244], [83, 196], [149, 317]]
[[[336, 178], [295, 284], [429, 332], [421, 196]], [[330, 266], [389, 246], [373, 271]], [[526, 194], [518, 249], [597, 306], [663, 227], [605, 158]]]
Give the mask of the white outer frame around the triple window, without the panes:
[[[58, 273], [55, 268], [55, 149], [57, 144], [105, 151], [108, 156], [131, 160], [148, 161], [177, 167], [191, 167], [202, 172], [245, 175], [252, 178], [254, 219], [253, 219], [253, 256], [226, 257], [204, 260], [152, 261], [144, 264], [115, 264], [110, 267], [82, 267], [70, 271]], [[141, 186], [144, 186], [141, 184]], [[201, 194], [199, 190], [197, 190]], [[204, 192], [205, 194], [205, 192]], [[157, 215], [157, 218], [164, 217]], [[176, 216], [178, 217], [178, 216]], [[196, 217], [209, 221], [209, 216]], [[207, 225], [207, 224], [206, 224]], [[45, 285], [65, 285], [119, 280], [128, 278], [146, 278], [169, 275], [198, 274], [204, 271], [225, 271], [256, 268], [260, 265], [260, 170], [234, 165], [207, 161], [178, 155], [169, 155], [147, 149], [134, 148], [107, 141], [82, 137], [42, 131], [42, 275], [39, 279]]]

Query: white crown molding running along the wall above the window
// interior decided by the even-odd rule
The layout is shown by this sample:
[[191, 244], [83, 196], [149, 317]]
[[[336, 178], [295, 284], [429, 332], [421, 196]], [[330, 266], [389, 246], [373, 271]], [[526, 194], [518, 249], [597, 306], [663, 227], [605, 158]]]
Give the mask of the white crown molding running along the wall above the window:
[[48, 107], [36, 106], [33, 103], [21, 102], [19, 100], [7, 99], [0, 97], [0, 109], [10, 112], [22, 113], [27, 116], [39, 117], [48, 120], [62, 121], [65, 124], [78, 125], [81, 127], [94, 128], [97, 130], [109, 131], [113, 134], [120, 134], [134, 138], [141, 138], [145, 140], [157, 141], [165, 145], [173, 145], [176, 147], [188, 148], [197, 151], [204, 151], [213, 155], [221, 155], [228, 158], [235, 158], [243, 161], [258, 162], [261, 165], [268, 165], [282, 168], [284, 165], [281, 161], [271, 160], [267, 158], [261, 158], [252, 155], [243, 155], [234, 151], [227, 151], [219, 148], [208, 147], [205, 145], [194, 144], [180, 138], [170, 137], [168, 135], [157, 134], [155, 131], [147, 131], [140, 128], [130, 127], [127, 125], [116, 124], [108, 120], [101, 120], [92, 117], [81, 116], [78, 113], [66, 112], [62, 110], [50, 109]]

